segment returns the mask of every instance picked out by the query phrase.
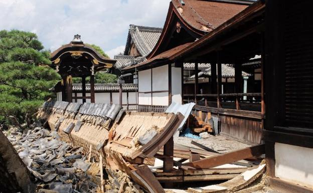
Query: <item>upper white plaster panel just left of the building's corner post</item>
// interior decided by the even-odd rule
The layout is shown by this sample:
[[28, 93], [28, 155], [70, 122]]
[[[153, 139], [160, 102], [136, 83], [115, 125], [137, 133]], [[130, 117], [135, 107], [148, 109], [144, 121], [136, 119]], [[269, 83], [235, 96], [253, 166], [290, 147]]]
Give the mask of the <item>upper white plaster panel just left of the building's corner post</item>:
[[169, 66], [152, 69], [152, 91], [169, 90]]

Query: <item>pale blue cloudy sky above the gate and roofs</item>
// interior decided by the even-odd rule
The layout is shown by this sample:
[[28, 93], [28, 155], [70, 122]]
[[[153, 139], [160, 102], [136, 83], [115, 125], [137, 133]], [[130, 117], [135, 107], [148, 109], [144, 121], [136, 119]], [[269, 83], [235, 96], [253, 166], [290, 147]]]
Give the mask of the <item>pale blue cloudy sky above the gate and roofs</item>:
[[110, 57], [124, 50], [129, 24], [163, 27], [170, 0], [0, 0], [0, 30], [34, 32], [56, 50], [80, 34]]

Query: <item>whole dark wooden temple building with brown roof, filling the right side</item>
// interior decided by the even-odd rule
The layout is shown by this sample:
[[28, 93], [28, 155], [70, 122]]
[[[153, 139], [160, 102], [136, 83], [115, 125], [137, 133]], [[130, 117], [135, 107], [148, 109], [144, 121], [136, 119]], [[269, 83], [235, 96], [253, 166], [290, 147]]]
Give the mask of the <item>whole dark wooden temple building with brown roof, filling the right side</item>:
[[[165, 105], [179, 102], [173, 97], [178, 89], [181, 102], [186, 102], [186, 95], [194, 98], [195, 114], [208, 112], [220, 118], [222, 134], [266, 144], [267, 185], [281, 192], [313, 192], [313, 2], [267, 0], [242, 5], [247, 2], [173, 0], [161, 38], [147, 60], [124, 70], [136, 70], [139, 75], [139, 105], [153, 106], [160, 93], [168, 98]], [[215, 26], [218, 14], [201, 17], [198, 25], [212, 21], [203, 28], [207, 32], [197, 35], [188, 9], [192, 5], [197, 13], [198, 4], [209, 16], [214, 11], [205, 5], [211, 3], [216, 4], [214, 9], [220, 5], [223, 9], [242, 6], [242, 10]], [[195, 64], [193, 93], [184, 90], [186, 63]], [[202, 92], [201, 64], [211, 68], [205, 83], [208, 89]], [[231, 92], [222, 92], [223, 64], [234, 68]], [[247, 92], [243, 90], [245, 71], [250, 74], [248, 80], [252, 77]], [[160, 77], [168, 82], [162, 89], [158, 88]]]

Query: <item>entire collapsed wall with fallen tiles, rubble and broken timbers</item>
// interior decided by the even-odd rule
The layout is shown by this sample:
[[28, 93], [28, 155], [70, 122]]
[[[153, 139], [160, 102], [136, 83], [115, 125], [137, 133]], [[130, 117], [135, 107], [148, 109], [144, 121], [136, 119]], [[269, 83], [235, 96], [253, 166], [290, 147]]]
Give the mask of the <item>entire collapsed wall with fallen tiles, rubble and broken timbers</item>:
[[[252, 171], [264, 168], [255, 170], [264, 145], [220, 153], [226, 149], [200, 143], [197, 135], [186, 145], [177, 143], [174, 135], [186, 120], [180, 112], [125, 112], [118, 105], [51, 101], [38, 117], [41, 122], [32, 129], [6, 131], [37, 192], [159, 193], [168, 191], [161, 183], [216, 180], [240, 183], [239, 190], [254, 181], [246, 180], [255, 176]], [[207, 131], [201, 136], [215, 137]], [[223, 185], [233, 190], [227, 181]], [[169, 192], [202, 192], [183, 189]]]

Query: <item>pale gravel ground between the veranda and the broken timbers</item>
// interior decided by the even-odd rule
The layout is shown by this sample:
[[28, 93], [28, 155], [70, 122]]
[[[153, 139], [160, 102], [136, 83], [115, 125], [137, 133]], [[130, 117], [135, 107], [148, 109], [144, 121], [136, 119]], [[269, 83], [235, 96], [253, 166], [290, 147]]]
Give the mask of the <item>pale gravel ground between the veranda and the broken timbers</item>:
[[209, 137], [206, 139], [192, 139], [189, 137], [174, 137], [174, 143], [176, 144], [199, 148], [191, 144], [192, 140], [202, 145], [205, 145], [211, 149], [214, 149], [215, 151], [218, 151], [220, 153], [234, 151], [237, 149], [242, 149], [242, 148], [250, 146], [248, 144], [236, 141], [234, 139], [231, 139], [229, 137], [225, 137], [222, 135], [216, 135], [216, 136], [209, 135]]

